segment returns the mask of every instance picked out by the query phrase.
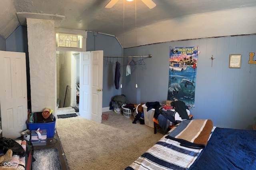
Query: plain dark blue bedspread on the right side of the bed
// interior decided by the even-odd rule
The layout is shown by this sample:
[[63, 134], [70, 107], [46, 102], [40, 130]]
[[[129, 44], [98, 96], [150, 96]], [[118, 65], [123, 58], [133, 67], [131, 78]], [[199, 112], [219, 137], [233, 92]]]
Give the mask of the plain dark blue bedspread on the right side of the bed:
[[256, 170], [256, 131], [216, 128], [189, 170]]

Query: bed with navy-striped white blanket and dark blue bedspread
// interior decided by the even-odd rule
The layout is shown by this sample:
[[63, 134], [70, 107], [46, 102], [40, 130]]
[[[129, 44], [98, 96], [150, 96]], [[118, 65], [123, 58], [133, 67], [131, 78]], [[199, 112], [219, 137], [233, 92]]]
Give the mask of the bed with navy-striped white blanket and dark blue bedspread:
[[[207, 139], [199, 142], [201, 145], [192, 146], [193, 142], [191, 145], [187, 140], [173, 138], [179, 126], [190, 125], [190, 121], [196, 120], [176, 125], [125, 170], [256, 169], [256, 131], [209, 125], [208, 136], [204, 136]], [[190, 129], [193, 131], [193, 126], [183, 127], [184, 131], [188, 130], [186, 136], [194, 133], [189, 132]], [[200, 133], [204, 131], [202, 129]]]

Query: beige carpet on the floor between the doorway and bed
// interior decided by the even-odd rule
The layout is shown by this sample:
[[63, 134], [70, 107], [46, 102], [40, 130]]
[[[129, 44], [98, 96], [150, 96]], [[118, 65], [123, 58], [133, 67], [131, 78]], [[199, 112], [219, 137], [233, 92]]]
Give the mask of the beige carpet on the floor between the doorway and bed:
[[162, 136], [161, 129], [109, 111], [107, 121], [95, 123], [82, 117], [56, 120], [70, 170], [122, 170], [153, 146]]

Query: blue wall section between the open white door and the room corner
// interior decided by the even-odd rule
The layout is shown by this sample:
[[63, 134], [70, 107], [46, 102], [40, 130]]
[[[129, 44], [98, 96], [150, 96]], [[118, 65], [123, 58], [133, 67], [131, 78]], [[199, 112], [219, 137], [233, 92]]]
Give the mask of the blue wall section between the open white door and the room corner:
[[[94, 36], [96, 35], [96, 36]], [[111, 98], [121, 94], [121, 88], [116, 89], [114, 86], [114, 77], [116, 69], [116, 61], [122, 63], [122, 58], [108, 58], [122, 56], [122, 46], [115, 37], [105, 34], [87, 33], [86, 51], [103, 50], [103, 93], [102, 107], [109, 107]], [[110, 64], [111, 62], [111, 64]], [[109, 64], [108, 64], [109, 63]], [[121, 81], [120, 81], [121, 82]]]

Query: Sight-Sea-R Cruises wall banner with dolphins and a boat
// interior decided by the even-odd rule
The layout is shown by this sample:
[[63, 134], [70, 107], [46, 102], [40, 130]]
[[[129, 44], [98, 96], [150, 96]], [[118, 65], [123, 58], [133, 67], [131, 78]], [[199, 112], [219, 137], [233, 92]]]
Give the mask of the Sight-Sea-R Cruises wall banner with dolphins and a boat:
[[183, 101], [194, 109], [198, 46], [170, 47], [167, 100]]

